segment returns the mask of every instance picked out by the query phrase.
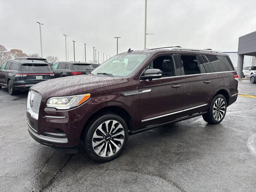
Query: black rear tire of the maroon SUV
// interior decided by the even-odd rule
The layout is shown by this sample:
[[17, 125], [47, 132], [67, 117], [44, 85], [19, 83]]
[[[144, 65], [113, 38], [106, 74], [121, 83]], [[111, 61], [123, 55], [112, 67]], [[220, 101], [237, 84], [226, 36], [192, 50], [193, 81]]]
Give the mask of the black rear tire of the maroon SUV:
[[[218, 105], [218, 101], [224, 101], [224, 107], [223, 108], [223, 102], [221, 104], [221, 107], [217, 107], [216, 108], [216, 104]], [[217, 102], [216, 102], [217, 101]], [[222, 112], [224, 109], [224, 112]], [[215, 112], [214, 112], [215, 110]], [[222, 120], [224, 119], [225, 115], [226, 115], [226, 110], [227, 110], [227, 101], [226, 98], [222, 95], [222, 94], [218, 94], [216, 95], [211, 104], [210, 104], [210, 108], [208, 109], [206, 114], [203, 114], [203, 118], [206, 122], [208, 122], [209, 124], [218, 124], [220, 122], [222, 122]]]

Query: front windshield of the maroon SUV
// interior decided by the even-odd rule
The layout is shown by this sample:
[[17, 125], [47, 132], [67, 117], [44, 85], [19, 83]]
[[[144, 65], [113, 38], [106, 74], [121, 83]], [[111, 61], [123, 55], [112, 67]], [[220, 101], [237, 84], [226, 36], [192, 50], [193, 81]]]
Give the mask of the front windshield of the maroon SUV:
[[98, 66], [92, 74], [108, 73], [113, 76], [128, 76], [150, 53], [116, 55]]

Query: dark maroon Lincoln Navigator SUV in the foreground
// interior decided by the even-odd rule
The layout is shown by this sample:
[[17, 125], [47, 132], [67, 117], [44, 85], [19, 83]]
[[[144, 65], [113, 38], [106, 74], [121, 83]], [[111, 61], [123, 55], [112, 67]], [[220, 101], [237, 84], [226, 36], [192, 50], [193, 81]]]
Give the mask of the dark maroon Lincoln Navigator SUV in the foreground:
[[118, 54], [91, 74], [38, 83], [27, 102], [28, 131], [63, 152], [82, 149], [106, 162], [128, 135], [203, 116], [220, 123], [238, 96], [228, 55], [213, 50], [157, 48]]

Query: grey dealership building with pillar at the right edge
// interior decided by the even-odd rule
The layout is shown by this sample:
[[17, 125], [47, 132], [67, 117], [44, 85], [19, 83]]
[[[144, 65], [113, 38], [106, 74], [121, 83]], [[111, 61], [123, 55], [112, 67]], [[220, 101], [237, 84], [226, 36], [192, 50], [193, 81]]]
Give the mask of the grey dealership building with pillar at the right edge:
[[[239, 37], [237, 54], [237, 73], [241, 78], [243, 67], [256, 65], [256, 31]], [[250, 65], [245, 65], [245, 60], [248, 60], [247, 58], [250, 58]], [[235, 63], [233, 62], [233, 64]]]

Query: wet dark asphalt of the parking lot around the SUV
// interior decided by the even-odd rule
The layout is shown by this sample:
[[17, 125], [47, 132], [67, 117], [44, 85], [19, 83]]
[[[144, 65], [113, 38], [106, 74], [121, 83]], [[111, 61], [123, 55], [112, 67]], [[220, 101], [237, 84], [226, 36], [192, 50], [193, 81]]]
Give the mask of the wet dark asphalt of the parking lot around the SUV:
[[[239, 82], [239, 94], [256, 84]], [[0, 90], [0, 191], [256, 191], [256, 98], [238, 96], [218, 125], [201, 116], [129, 136], [99, 164], [31, 138], [27, 93]]]

